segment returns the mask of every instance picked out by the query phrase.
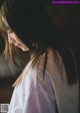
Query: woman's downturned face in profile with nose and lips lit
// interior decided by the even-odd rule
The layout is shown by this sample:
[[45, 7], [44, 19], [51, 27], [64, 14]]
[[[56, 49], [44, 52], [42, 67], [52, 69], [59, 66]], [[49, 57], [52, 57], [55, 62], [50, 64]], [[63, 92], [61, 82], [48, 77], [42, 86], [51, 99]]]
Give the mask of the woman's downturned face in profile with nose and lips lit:
[[8, 42], [14, 44], [16, 47], [22, 49], [23, 51], [28, 51], [29, 48], [19, 39], [19, 37], [10, 29], [7, 21], [2, 18], [3, 23], [7, 26]]

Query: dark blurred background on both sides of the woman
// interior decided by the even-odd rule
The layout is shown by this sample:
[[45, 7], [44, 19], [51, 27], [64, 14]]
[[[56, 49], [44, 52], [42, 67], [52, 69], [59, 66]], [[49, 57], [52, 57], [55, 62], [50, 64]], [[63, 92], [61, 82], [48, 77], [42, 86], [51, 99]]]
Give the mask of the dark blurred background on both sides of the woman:
[[[42, 1], [52, 23], [58, 29], [60, 37], [63, 37], [74, 50], [78, 69], [80, 68], [80, 5], [54, 5], [50, 0]], [[22, 71], [9, 60], [8, 64], [2, 55], [4, 40], [0, 34], [0, 103], [9, 103], [13, 92], [12, 84]], [[22, 52], [24, 56], [26, 53]], [[16, 61], [24, 67], [26, 64], [15, 55]], [[80, 73], [80, 72], [79, 72]]]

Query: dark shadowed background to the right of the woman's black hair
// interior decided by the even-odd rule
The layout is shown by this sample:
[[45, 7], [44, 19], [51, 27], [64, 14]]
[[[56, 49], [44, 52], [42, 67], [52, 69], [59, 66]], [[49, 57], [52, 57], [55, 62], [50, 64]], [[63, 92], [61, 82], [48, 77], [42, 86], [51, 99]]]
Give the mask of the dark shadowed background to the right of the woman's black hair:
[[80, 62], [80, 5], [54, 5], [49, 0], [46, 9], [60, 37], [68, 41]]

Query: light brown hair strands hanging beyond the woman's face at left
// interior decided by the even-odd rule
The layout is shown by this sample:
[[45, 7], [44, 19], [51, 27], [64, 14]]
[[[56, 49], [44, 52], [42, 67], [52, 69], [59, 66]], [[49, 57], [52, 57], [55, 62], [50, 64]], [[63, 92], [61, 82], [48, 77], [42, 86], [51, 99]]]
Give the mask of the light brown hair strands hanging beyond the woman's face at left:
[[23, 62], [27, 62], [27, 59], [29, 59], [29, 56], [27, 55], [27, 59], [23, 56], [22, 52], [20, 49], [18, 49], [17, 47], [15, 47], [14, 45], [9, 44], [8, 42], [8, 34], [6, 32], [6, 27], [4, 22], [2, 21], [2, 17], [4, 19], [5, 18], [5, 14], [4, 14], [4, 8], [1, 7], [0, 10], [0, 32], [2, 34], [2, 37], [4, 39], [4, 51], [3, 51], [3, 55], [5, 56], [6, 61], [8, 61], [8, 58], [10, 58], [12, 61], [14, 61], [15, 65], [18, 66], [19, 68], [21, 68], [21, 70], [23, 70], [23, 67], [19, 65], [19, 63], [16, 62], [15, 60], [15, 55], [18, 56], [20, 58], [20, 60], [22, 60]]

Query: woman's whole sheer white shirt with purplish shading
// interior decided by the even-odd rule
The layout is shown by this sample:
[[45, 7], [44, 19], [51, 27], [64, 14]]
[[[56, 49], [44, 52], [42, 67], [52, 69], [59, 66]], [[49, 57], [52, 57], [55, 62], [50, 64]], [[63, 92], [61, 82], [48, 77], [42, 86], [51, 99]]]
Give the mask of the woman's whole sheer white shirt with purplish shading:
[[44, 81], [44, 57], [34, 68], [28, 70], [30, 63], [26, 66], [22, 82], [14, 89], [8, 113], [78, 113], [78, 84], [69, 86], [60, 56], [59, 61], [62, 75], [50, 51]]

